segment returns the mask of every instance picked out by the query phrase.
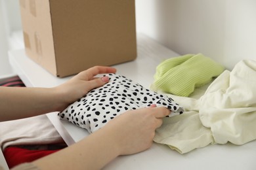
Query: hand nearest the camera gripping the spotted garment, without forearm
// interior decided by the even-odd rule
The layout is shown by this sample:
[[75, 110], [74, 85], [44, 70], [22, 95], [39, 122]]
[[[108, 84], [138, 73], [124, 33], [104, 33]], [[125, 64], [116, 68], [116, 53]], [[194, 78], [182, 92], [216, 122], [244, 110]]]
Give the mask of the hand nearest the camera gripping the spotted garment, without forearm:
[[102, 129], [114, 137], [119, 155], [135, 154], [150, 148], [162, 118], [170, 113], [165, 107], [129, 110], [108, 122]]

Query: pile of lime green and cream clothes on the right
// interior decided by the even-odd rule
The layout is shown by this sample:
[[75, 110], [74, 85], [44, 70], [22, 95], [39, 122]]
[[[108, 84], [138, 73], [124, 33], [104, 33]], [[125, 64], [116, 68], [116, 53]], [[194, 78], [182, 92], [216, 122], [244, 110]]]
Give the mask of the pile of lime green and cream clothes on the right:
[[164, 118], [154, 141], [184, 154], [208, 144], [255, 140], [255, 77], [253, 60], [238, 62], [232, 71], [202, 54], [163, 61], [151, 90], [172, 97], [185, 111]]

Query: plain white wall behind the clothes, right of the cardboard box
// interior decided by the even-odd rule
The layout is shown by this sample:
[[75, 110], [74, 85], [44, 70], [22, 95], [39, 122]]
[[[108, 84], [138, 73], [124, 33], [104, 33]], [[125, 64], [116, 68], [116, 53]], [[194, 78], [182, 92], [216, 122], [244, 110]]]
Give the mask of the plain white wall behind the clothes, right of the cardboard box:
[[241, 59], [256, 59], [255, 0], [136, 0], [136, 5], [137, 31], [179, 54], [202, 52], [228, 69]]

